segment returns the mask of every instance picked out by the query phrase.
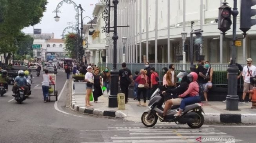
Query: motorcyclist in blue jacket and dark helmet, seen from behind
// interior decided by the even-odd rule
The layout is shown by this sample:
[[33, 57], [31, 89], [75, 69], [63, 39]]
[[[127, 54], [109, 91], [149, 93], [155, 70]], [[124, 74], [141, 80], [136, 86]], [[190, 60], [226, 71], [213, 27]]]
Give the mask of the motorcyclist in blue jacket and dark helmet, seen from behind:
[[27, 84], [27, 79], [24, 76], [25, 76], [24, 71], [19, 71], [19, 76], [17, 76], [14, 79], [14, 84], [13, 84], [13, 89], [12, 89], [14, 94], [16, 94], [19, 87], [24, 87], [25, 94], [27, 95], [28, 87], [25, 86]]

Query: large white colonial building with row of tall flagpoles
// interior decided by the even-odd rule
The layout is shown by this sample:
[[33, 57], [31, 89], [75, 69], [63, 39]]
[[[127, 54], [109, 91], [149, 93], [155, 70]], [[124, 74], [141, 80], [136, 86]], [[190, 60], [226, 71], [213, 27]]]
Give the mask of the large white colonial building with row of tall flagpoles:
[[[205, 60], [211, 63], [226, 64], [231, 57], [231, 41], [225, 39], [218, 30], [218, 7], [224, 0], [119, 0], [118, 4], [118, 26], [129, 25], [129, 27], [118, 28], [117, 60], [122, 62], [123, 43], [122, 37], [127, 37], [125, 44], [125, 62], [127, 63], [180, 63], [177, 60], [182, 55], [181, 32], [187, 32], [185, 41], [186, 62], [190, 62], [190, 32], [191, 21], [194, 22], [193, 29], [203, 30], [203, 44], [200, 55], [205, 55]], [[233, 7], [233, 0], [227, 0], [230, 7]], [[112, 0], [111, 0], [111, 4]], [[105, 22], [102, 19], [102, 12], [105, 5], [99, 1], [95, 5], [93, 16], [97, 16], [97, 30], [101, 31]], [[240, 11], [240, 0], [238, 0]], [[111, 8], [110, 25], [113, 26], [113, 11]], [[237, 18], [237, 34], [242, 37], [240, 28], [240, 15]], [[251, 57], [256, 61], [256, 26], [252, 26], [247, 32], [249, 35], [242, 39], [242, 46], [238, 46], [238, 62], [244, 64], [245, 59]], [[113, 32], [110, 32], [112, 37]], [[227, 32], [232, 36], [232, 26]], [[93, 50], [94, 61], [100, 60], [105, 48], [105, 34], [101, 33], [98, 38], [89, 44], [88, 49]], [[95, 43], [95, 44], [94, 44]], [[109, 63], [113, 62], [113, 44], [107, 40]], [[99, 49], [99, 54], [97, 51]], [[94, 54], [96, 54], [94, 56]], [[100, 57], [99, 57], [100, 56]]]

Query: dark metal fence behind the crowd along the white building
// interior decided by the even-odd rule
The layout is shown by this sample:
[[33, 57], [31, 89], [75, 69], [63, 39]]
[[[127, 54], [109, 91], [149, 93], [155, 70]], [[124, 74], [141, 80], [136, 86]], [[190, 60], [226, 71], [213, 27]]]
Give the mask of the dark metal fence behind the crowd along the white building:
[[[183, 64], [174, 64], [175, 65], [175, 71], [176, 73], [182, 71]], [[108, 67], [109, 69], [113, 69], [113, 64], [98, 64], [98, 66], [101, 69], [104, 69], [105, 67]], [[159, 74], [160, 82], [162, 82], [163, 79], [163, 67], [169, 67], [169, 64], [149, 64], [150, 67], [154, 67], [155, 71]], [[245, 65], [242, 65], [245, 66]], [[117, 69], [122, 69], [122, 64], [116, 65]], [[189, 72], [190, 70], [190, 64], [185, 64], [185, 71]], [[213, 79], [212, 84], [215, 87], [227, 87], [227, 68], [228, 64], [211, 64], [211, 67], [214, 69], [213, 72]], [[127, 63], [127, 68], [131, 70], [132, 74], [134, 75], [135, 71], [140, 71], [140, 69], [145, 68], [145, 64], [143, 63]], [[168, 68], [169, 69], [169, 68]], [[242, 88], [243, 86], [243, 80], [242, 78], [238, 79], [238, 88]]]

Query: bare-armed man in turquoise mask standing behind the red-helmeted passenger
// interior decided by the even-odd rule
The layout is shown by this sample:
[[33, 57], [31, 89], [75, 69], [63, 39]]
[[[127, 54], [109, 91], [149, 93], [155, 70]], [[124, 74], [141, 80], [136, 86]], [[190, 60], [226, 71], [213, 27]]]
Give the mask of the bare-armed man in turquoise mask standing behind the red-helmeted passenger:
[[208, 89], [212, 88], [212, 74], [213, 74], [213, 68], [210, 67], [210, 62], [205, 62], [205, 67], [203, 69], [203, 75], [209, 76], [209, 78], [206, 78], [203, 80], [203, 96], [205, 97], [205, 102], [208, 102], [207, 99], [207, 92]]

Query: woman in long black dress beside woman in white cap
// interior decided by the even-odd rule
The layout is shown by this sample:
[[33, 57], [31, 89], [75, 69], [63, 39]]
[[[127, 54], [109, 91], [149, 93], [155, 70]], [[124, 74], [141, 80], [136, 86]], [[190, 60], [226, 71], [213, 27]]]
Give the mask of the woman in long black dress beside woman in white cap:
[[98, 97], [100, 97], [102, 94], [102, 77], [99, 75], [100, 70], [96, 69], [94, 71], [94, 91], [93, 91], [93, 98], [94, 98], [94, 103], [98, 102]]

